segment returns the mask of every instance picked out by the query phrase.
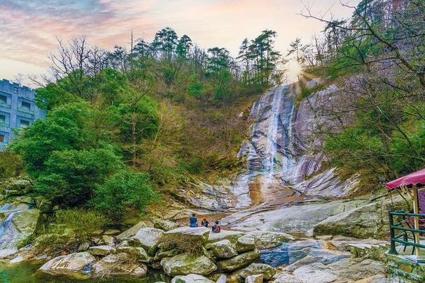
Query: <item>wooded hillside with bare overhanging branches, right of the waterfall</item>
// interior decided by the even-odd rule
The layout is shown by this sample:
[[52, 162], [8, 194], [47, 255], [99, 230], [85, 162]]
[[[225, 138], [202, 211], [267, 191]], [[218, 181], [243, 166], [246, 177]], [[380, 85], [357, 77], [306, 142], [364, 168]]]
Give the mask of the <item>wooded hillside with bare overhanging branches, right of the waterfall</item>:
[[316, 107], [337, 126], [315, 134], [326, 140], [329, 164], [343, 175], [360, 173], [363, 188], [425, 165], [424, 8], [421, 0], [363, 0], [350, 19], [302, 11], [326, 27], [312, 43], [297, 38], [291, 52], [305, 79], [319, 75], [340, 88], [337, 103]]

